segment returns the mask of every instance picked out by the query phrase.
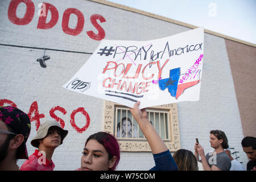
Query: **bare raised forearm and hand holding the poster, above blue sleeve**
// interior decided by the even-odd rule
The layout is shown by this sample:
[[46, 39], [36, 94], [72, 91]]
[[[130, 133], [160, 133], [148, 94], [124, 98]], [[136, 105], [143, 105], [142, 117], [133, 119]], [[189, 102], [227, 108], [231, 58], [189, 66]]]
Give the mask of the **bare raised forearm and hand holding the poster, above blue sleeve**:
[[168, 148], [164, 144], [162, 138], [158, 135], [154, 127], [151, 125], [147, 118], [146, 109], [139, 109], [140, 101], [134, 104], [133, 109], [130, 108], [131, 114], [133, 114], [134, 119], [138, 122], [142, 133], [146, 137], [148, 144], [150, 144], [153, 154], [159, 154], [161, 152], [167, 151]]

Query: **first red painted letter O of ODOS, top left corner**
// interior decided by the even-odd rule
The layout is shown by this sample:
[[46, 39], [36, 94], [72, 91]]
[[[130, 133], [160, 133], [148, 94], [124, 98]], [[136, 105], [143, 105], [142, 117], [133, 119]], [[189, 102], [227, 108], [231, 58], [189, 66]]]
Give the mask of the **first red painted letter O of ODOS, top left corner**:
[[[23, 18], [18, 18], [16, 15], [17, 7], [20, 3], [25, 3], [27, 6], [26, 13]], [[12, 0], [8, 8], [9, 20], [18, 25], [25, 25], [31, 22], [35, 13], [35, 5], [31, 0]]]

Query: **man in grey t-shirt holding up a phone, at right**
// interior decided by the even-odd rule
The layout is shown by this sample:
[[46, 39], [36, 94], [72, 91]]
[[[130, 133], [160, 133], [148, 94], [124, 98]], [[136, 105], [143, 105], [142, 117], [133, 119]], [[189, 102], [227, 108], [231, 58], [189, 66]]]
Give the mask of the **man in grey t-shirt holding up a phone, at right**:
[[195, 156], [203, 164], [204, 171], [229, 171], [231, 160], [224, 151], [229, 147], [225, 133], [220, 130], [210, 131], [209, 142], [214, 152], [209, 152], [207, 155], [204, 155], [204, 148], [199, 143], [195, 144]]

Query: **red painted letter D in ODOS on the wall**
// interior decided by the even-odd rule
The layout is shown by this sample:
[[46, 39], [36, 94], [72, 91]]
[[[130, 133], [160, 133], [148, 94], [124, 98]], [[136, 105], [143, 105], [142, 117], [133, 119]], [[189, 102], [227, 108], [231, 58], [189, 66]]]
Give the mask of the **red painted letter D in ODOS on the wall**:
[[[55, 6], [49, 4], [49, 3], [45, 3], [45, 8], [46, 8], [46, 16], [39, 16], [38, 19], [38, 28], [39, 29], [49, 29], [55, 26], [55, 24], [57, 23], [58, 19], [59, 19], [59, 13], [58, 10], [56, 9]], [[48, 10], [51, 11], [51, 20], [46, 23], [46, 19], [48, 16]]]

